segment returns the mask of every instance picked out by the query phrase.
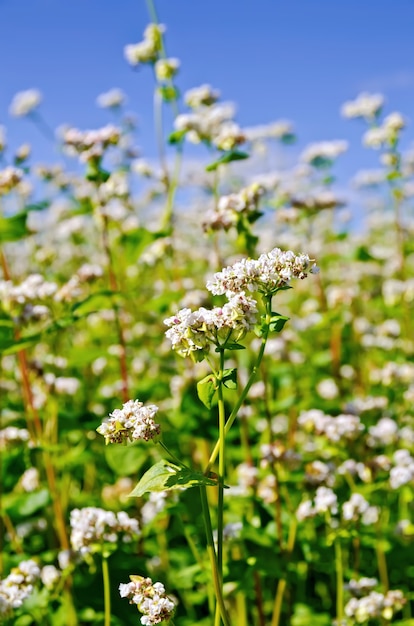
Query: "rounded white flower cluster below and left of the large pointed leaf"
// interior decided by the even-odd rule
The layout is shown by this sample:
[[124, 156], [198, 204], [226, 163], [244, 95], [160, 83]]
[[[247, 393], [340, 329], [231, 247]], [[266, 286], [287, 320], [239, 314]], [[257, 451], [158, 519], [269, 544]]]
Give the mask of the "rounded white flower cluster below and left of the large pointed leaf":
[[93, 506], [73, 509], [70, 526], [72, 548], [81, 554], [100, 551], [103, 543], [116, 544], [119, 536], [129, 542], [139, 534], [138, 521], [124, 511], [113, 513]]

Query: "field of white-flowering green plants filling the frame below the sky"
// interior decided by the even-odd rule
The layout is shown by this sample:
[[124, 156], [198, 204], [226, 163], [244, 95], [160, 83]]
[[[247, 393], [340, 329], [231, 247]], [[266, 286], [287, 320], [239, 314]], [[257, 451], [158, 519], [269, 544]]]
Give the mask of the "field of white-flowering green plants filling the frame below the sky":
[[414, 626], [406, 117], [338, 112], [378, 155], [352, 214], [345, 140], [292, 166], [151, 19], [156, 163], [119, 89], [56, 133], [16, 94], [59, 164], [0, 127], [0, 623]]

